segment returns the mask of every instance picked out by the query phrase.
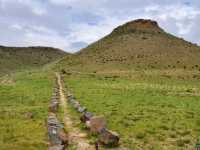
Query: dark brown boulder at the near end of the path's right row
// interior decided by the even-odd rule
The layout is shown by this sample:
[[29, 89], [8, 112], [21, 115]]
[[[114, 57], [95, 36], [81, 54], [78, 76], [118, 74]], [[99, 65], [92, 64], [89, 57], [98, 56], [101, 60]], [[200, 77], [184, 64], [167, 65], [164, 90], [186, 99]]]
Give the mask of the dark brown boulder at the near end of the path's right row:
[[113, 131], [104, 128], [99, 133], [99, 141], [106, 146], [118, 146], [119, 135]]

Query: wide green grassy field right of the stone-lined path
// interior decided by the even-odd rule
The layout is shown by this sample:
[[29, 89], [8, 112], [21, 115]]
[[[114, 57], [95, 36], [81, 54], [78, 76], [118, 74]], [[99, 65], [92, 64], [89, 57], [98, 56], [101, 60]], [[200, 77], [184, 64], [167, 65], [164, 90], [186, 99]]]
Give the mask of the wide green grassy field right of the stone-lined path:
[[104, 72], [65, 76], [89, 111], [105, 115], [121, 144], [137, 150], [193, 150], [200, 136], [198, 71]]

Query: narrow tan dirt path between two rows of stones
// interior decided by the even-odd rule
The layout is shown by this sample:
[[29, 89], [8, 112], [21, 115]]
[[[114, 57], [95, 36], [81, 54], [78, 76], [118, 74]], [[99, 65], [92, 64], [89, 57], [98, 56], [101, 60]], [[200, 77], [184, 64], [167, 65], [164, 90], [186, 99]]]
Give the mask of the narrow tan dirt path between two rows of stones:
[[61, 82], [61, 77], [58, 73], [56, 73], [58, 79], [58, 85], [60, 87], [60, 104], [62, 106], [64, 112], [64, 124], [67, 127], [68, 136], [69, 136], [69, 144], [75, 145], [77, 150], [95, 150], [95, 146], [89, 144], [86, 133], [83, 133], [78, 127], [75, 127], [73, 124], [73, 120], [71, 119], [68, 109], [67, 109], [67, 99], [63, 92], [63, 85]]

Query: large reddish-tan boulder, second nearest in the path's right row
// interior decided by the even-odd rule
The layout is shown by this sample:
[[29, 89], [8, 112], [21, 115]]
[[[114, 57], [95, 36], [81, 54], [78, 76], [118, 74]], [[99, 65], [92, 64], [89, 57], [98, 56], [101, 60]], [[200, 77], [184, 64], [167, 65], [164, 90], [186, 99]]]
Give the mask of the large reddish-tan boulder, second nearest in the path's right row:
[[106, 128], [106, 120], [103, 116], [94, 116], [90, 119], [92, 133], [99, 133], [103, 128]]

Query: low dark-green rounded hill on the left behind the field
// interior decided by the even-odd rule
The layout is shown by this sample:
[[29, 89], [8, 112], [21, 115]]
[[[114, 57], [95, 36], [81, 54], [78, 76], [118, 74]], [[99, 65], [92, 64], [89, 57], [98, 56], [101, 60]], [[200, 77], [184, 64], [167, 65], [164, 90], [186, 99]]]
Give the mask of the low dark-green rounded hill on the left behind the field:
[[0, 46], [0, 74], [41, 67], [60, 59], [65, 54], [59, 49], [49, 47]]

